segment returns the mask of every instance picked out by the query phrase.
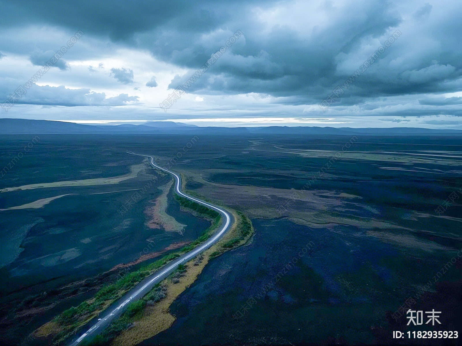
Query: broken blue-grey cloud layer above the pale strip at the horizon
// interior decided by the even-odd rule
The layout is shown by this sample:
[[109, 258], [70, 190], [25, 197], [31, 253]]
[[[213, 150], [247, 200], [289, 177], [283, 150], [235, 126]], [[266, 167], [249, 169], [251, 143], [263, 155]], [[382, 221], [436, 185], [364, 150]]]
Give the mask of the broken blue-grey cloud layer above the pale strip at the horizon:
[[[462, 91], [460, 1], [66, 1], [53, 2], [53, 6], [0, 1], [0, 6], [0, 50], [7, 55], [26, 55], [34, 66], [47, 61], [64, 44], [62, 37], [67, 33], [85, 32], [86, 43], [76, 44], [55, 64], [62, 73], [69, 72], [67, 61], [107, 57], [117, 49], [147, 51], [182, 71], [172, 76], [168, 84], [172, 89], [188, 80], [241, 30], [243, 37], [190, 86], [188, 93], [256, 93], [278, 104], [313, 105], [345, 85], [352, 74], [364, 70], [365, 61], [383, 47], [365, 71], [350, 79], [331, 110], [354, 107], [351, 109], [361, 113], [371, 107], [395, 107], [406, 99], [412, 107], [396, 107], [396, 116], [409, 112], [461, 115], [460, 95], [443, 95]], [[15, 44], [6, 37], [31, 25], [66, 34], [43, 34], [36, 42], [19, 38]], [[396, 30], [400, 35], [387, 45]], [[0, 59], [3, 56], [0, 54]], [[94, 73], [100, 70], [103, 68], [87, 68]], [[118, 84], [131, 85], [132, 94], [114, 91], [119, 96], [106, 98], [103, 93], [92, 93], [91, 83], [72, 92], [37, 86], [36, 90], [43, 91], [34, 91], [23, 103], [122, 105], [138, 100], [138, 86], [160, 89], [158, 77], [151, 78], [151, 74], [137, 79], [128, 66], [108, 66], [104, 73]], [[19, 83], [24, 76], [8, 78], [9, 85], [16, 79]], [[0, 89], [5, 92], [2, 98], [12, 91]], [[432, 108], [424, 110], [424, 106]], [[305, 113], [318, 111], [311, 108]]]

